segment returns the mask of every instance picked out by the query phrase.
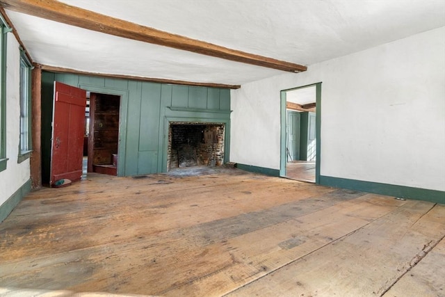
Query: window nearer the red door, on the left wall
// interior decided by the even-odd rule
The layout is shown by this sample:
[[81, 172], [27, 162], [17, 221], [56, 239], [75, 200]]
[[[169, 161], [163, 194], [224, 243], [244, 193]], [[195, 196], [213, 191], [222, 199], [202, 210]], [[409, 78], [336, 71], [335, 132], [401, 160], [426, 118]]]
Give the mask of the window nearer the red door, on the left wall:
[[24, 51], [20, 55], [20, 145], [19, 162], [31, 155], [31, 63]]

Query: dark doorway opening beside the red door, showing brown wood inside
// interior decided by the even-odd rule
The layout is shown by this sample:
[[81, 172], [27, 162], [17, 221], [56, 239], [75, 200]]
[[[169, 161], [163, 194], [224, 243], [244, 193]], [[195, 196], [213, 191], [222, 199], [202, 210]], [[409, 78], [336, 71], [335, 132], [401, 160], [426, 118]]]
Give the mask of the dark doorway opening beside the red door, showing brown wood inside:
[[86, 171], [117, 175], [120, 96], [90, 93], [88, 107]]

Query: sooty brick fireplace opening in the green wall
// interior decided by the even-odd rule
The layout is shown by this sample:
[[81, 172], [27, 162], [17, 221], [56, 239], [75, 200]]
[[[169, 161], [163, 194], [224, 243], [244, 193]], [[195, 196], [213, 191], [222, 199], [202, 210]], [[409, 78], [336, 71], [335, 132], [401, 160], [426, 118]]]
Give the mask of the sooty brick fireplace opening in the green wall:
[[167, 169], [223, 165], [224, 130], [224, 124], [170, 123]]

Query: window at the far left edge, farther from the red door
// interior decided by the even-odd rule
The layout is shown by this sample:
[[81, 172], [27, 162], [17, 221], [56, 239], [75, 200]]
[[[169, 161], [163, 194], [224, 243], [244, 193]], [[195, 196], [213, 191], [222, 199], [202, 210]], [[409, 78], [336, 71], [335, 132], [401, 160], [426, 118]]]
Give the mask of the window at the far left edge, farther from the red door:
[[10, 28], [0, 15], [0, 171], [6, 169], [6, 34]]

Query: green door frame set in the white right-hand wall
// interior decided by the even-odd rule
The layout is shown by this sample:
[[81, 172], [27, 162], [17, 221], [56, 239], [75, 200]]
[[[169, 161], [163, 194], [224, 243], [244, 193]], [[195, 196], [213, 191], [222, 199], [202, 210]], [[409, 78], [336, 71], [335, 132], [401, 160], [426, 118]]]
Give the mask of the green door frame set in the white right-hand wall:
[[286, 93], [301, 88], [316, 88], [316, 159], [315, 159], [315, 183], [320, 184], [321, 164], [321, 82], [280, 91], [280, 177], [286, 177]]

